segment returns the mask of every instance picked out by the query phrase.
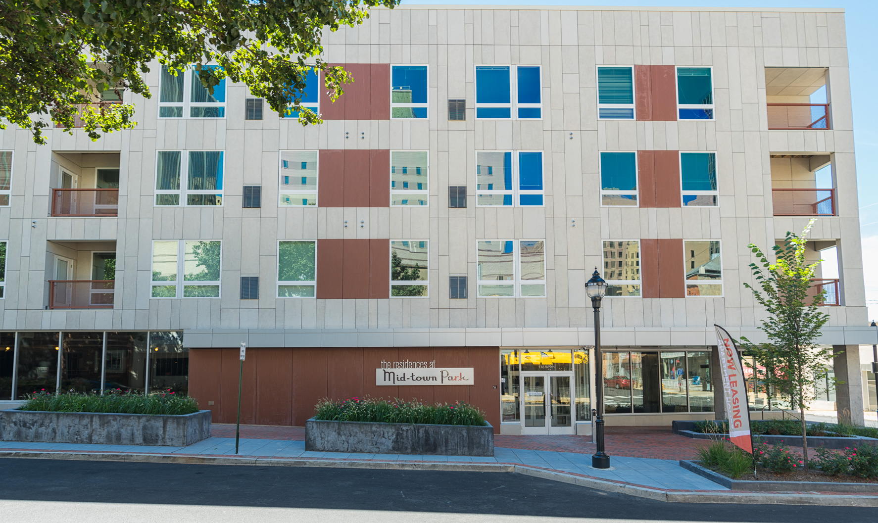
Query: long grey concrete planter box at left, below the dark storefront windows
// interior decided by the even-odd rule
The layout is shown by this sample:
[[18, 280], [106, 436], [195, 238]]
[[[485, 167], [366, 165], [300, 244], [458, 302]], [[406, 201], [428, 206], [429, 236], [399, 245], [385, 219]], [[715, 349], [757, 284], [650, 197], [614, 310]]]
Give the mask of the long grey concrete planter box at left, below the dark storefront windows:
[[211, 412], [180, 416], [0, 411], [0, 441], [186, 447], [211, 437]]

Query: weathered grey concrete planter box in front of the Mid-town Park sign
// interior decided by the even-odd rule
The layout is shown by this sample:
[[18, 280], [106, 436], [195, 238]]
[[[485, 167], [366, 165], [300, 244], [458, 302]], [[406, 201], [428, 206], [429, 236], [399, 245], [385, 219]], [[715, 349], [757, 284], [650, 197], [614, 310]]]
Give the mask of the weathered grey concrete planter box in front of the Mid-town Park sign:
[[305, 422], [305, 449], [414, 455], [493, 455], [493, 426]]

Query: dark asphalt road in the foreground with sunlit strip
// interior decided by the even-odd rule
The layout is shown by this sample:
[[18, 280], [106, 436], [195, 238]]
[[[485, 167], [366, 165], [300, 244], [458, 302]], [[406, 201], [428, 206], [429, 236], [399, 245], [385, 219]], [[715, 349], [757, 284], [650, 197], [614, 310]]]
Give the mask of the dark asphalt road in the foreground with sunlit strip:
[[0, 521], [874, 523], [874, 508], [665, 503], [513, 473], [0, 458]]

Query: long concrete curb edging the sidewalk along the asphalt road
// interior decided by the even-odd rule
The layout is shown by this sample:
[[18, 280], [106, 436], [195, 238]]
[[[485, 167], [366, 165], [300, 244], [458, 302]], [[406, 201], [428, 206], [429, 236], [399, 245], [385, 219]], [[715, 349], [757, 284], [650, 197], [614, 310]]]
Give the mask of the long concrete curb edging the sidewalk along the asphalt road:
[[739, 503], [767, 505], [824, 505], [878, 507], [878, 495], [826, 495], [825, 492], [674, 491], [628, 484], [571, 472], [541, 469], [517, 463], [385, 462], [334, 459], [231, 457], [211, 455], [119, 454], [100, 452], [0, 451], [0, 458], [61, 459], [104, 462], [186, 463], [199, 465], [262, 465], [332, 469], [446, 470], [456, 472], [514, 472], [607, 492], [671, 503]]

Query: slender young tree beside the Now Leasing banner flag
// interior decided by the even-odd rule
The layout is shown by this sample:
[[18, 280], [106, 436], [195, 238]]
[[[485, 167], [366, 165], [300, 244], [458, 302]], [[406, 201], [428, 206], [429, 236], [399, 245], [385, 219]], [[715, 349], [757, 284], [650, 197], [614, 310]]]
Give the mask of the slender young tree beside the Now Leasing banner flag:
[[801, 235], [787, 233], [783, 246], [775, 245], [775, 262], [768, 261], [762, 249], [750, 244], [758, 263], [751, 263], [756, 287], [752, 290], [756, 301], [766, 308], [766, 319], [759, 327], [766, 333], [766, 343], [752, 343], [742, 337], [748, 354], [756, 362], [754, 373], [766, 390], [789, 402], [799, 411], [802, 420], [802, 455], [808, 469], [808, 433], [805, 409], [814, 401], [814, 387], [826, 379], [825, 362], [831, 358], [831, 349], [820, 347], [817, 339], [829, 315], [820, 312], [826, 291], [815, 292], [811, 278], [819, 261], [805, 261], [806, 237], [815, 220], [812, 219]]

